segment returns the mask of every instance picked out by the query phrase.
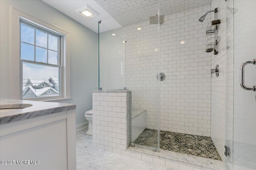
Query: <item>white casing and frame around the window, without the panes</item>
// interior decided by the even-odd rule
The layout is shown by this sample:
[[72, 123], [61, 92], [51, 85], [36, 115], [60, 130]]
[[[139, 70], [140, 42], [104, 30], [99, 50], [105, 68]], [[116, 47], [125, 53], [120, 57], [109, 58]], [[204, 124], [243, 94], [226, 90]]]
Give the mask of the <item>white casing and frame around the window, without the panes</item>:
[[[62, 35], [62, 47], [61, 47], [61, 65], [62, 65], [62, 76], [60, 77], [60, 83], [62, 84], [62, 88], [60, 89], [61, 96], [51, 96], [51, 97], [42, 97], [42, 98], [28, 98], [26, 100], [60, 100], [60, 99], [68, 99], [70, 98], [70, 33], [65, 31], [59, 27], [56, 27], [50, 23], [46, 23], [38, 18], [34, 18], [33, 16], [26, 14], [16, 8], [12, 7], [13, 11], [13, 83], [12, 83], [12, 99], [22, 100], [22, 65], [20, 65], [20, 18], [23, 20], [28, 20], [31, 23], [36, 25], [40, 25], [41, 27], [45, 27], [46, 29], [50, 29]], [[18, 86], [19, 84], [19, 86]]]

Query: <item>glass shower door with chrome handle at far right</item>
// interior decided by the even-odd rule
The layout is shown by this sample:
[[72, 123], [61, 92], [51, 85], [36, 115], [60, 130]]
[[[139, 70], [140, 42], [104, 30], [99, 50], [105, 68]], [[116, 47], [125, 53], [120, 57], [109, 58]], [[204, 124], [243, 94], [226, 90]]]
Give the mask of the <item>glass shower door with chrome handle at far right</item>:
[[[233, 169], [252, 170], [256, 167], [256, 91], [240, 86], [240, 66], [256, 60], [256, 1], [234, 0], [230, 10], [234, 13]], [[256, 86], [255, 61], [244, 67], [244, 85]]]

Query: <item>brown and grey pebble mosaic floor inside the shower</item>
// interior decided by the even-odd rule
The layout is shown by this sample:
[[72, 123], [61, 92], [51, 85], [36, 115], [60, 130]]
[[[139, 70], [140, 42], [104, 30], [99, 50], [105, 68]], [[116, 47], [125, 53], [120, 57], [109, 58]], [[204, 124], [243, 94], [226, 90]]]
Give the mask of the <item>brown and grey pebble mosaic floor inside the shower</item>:
[[[152, 147], [156, 139], [157, 130], [144, 129], [134, 143]], [[210, 137], [160, 131], [160, 149], [222, 161]]]

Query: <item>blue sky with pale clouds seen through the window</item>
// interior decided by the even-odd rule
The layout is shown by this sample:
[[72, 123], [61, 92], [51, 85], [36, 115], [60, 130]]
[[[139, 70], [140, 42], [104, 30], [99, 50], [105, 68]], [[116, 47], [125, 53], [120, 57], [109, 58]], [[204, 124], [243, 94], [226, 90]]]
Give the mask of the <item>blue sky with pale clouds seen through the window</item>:
[[[36, 34], [36, 36], [35, 36]], [[35, 39], [36, 37], [36, 39]], [[58, 64], [58, 38], [48, 35], [48, 49], [47, 48], [47, 33], [36, 30], [32, 27], [21, 24], [21, 59], [37, 62]], [[36, 47], [36, 46], [39, 47]], [[42, 48], [44, 47], [44, 48]], [[35, 51], [34, 51], [35, 50]], [[35, 53], [36, 52], [36, 58]], [[23, 83], [28, 78], [47, 79], [50, 76], [58, 76], [59, 67], [45, 66], [43, 64], [23, 63]]]

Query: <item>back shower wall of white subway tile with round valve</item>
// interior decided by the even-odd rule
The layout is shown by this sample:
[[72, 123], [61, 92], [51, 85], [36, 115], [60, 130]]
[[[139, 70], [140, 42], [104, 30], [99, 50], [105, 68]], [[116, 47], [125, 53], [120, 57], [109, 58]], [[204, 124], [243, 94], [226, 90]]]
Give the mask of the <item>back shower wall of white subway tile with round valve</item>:
[[166, 75], [160, 82], [160, 130], [210, 137], [211, 54], [204, 52], [210, 16], [198, 21], [209, 10], [207, 5], [165, 16], [160, 49], [157, 24], [123, 27], [126, 87], [132, 90], [132, 107], [147, 111], [146, 128], [157, 129], [160, 69]]

